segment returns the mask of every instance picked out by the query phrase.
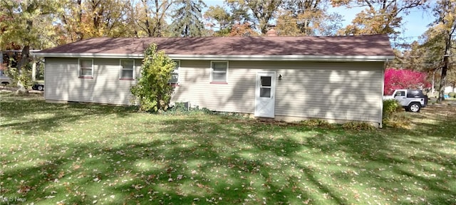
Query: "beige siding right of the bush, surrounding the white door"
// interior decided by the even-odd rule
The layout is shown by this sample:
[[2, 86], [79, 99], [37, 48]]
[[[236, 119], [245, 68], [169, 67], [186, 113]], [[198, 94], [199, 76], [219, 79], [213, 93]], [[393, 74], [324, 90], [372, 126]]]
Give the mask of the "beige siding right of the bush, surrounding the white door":
[[383, 63], [229, 61], [228, 83], [210, 83], [210, 61], [181, 61], [173, 101], [254, 113], [255, 78], [275, 71], [275, 115], [378, 122]]

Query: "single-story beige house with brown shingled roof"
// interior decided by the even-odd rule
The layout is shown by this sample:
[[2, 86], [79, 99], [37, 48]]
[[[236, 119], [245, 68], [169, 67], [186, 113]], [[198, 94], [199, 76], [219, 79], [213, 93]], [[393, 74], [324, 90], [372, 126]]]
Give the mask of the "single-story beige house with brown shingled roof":
[[355, 120], [381, 126], [386, 35], [90, 38], [44, 57], [48, 102], [130, 105], [143, 51], [177, 62], [172, 102], [276, 120]]

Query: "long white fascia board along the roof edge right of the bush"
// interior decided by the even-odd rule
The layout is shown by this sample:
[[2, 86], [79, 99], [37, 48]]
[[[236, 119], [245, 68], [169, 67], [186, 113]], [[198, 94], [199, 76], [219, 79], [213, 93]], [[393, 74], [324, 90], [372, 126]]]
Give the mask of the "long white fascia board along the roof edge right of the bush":
[[168, 55], [180, 60], [223, 61], [388, 61], [394, 56], [301, 56], [301, 55]]

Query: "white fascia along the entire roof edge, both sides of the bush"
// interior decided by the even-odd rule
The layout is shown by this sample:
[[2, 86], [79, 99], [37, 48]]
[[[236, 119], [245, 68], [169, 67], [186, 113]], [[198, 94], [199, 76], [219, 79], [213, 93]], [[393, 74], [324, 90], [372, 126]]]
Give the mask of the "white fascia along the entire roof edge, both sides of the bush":
[[[32, 53], [38, 57], [53, 58], [144, 58], [142, 53]], [[384, 62], [394, 56], [304, 56], [304, 55], [182, 55], [168, 54], [175, 60], [208, 60], [208, 61], [363, 61]]]

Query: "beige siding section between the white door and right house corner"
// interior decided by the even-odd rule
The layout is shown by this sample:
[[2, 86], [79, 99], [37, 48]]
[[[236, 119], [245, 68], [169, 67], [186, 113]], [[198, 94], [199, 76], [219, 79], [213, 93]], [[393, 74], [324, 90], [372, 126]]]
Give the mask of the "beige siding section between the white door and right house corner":
[[284, 71], [284, 79], [276, 86], [276, 115], [369, 122], [380, 119], [381, 70]]

